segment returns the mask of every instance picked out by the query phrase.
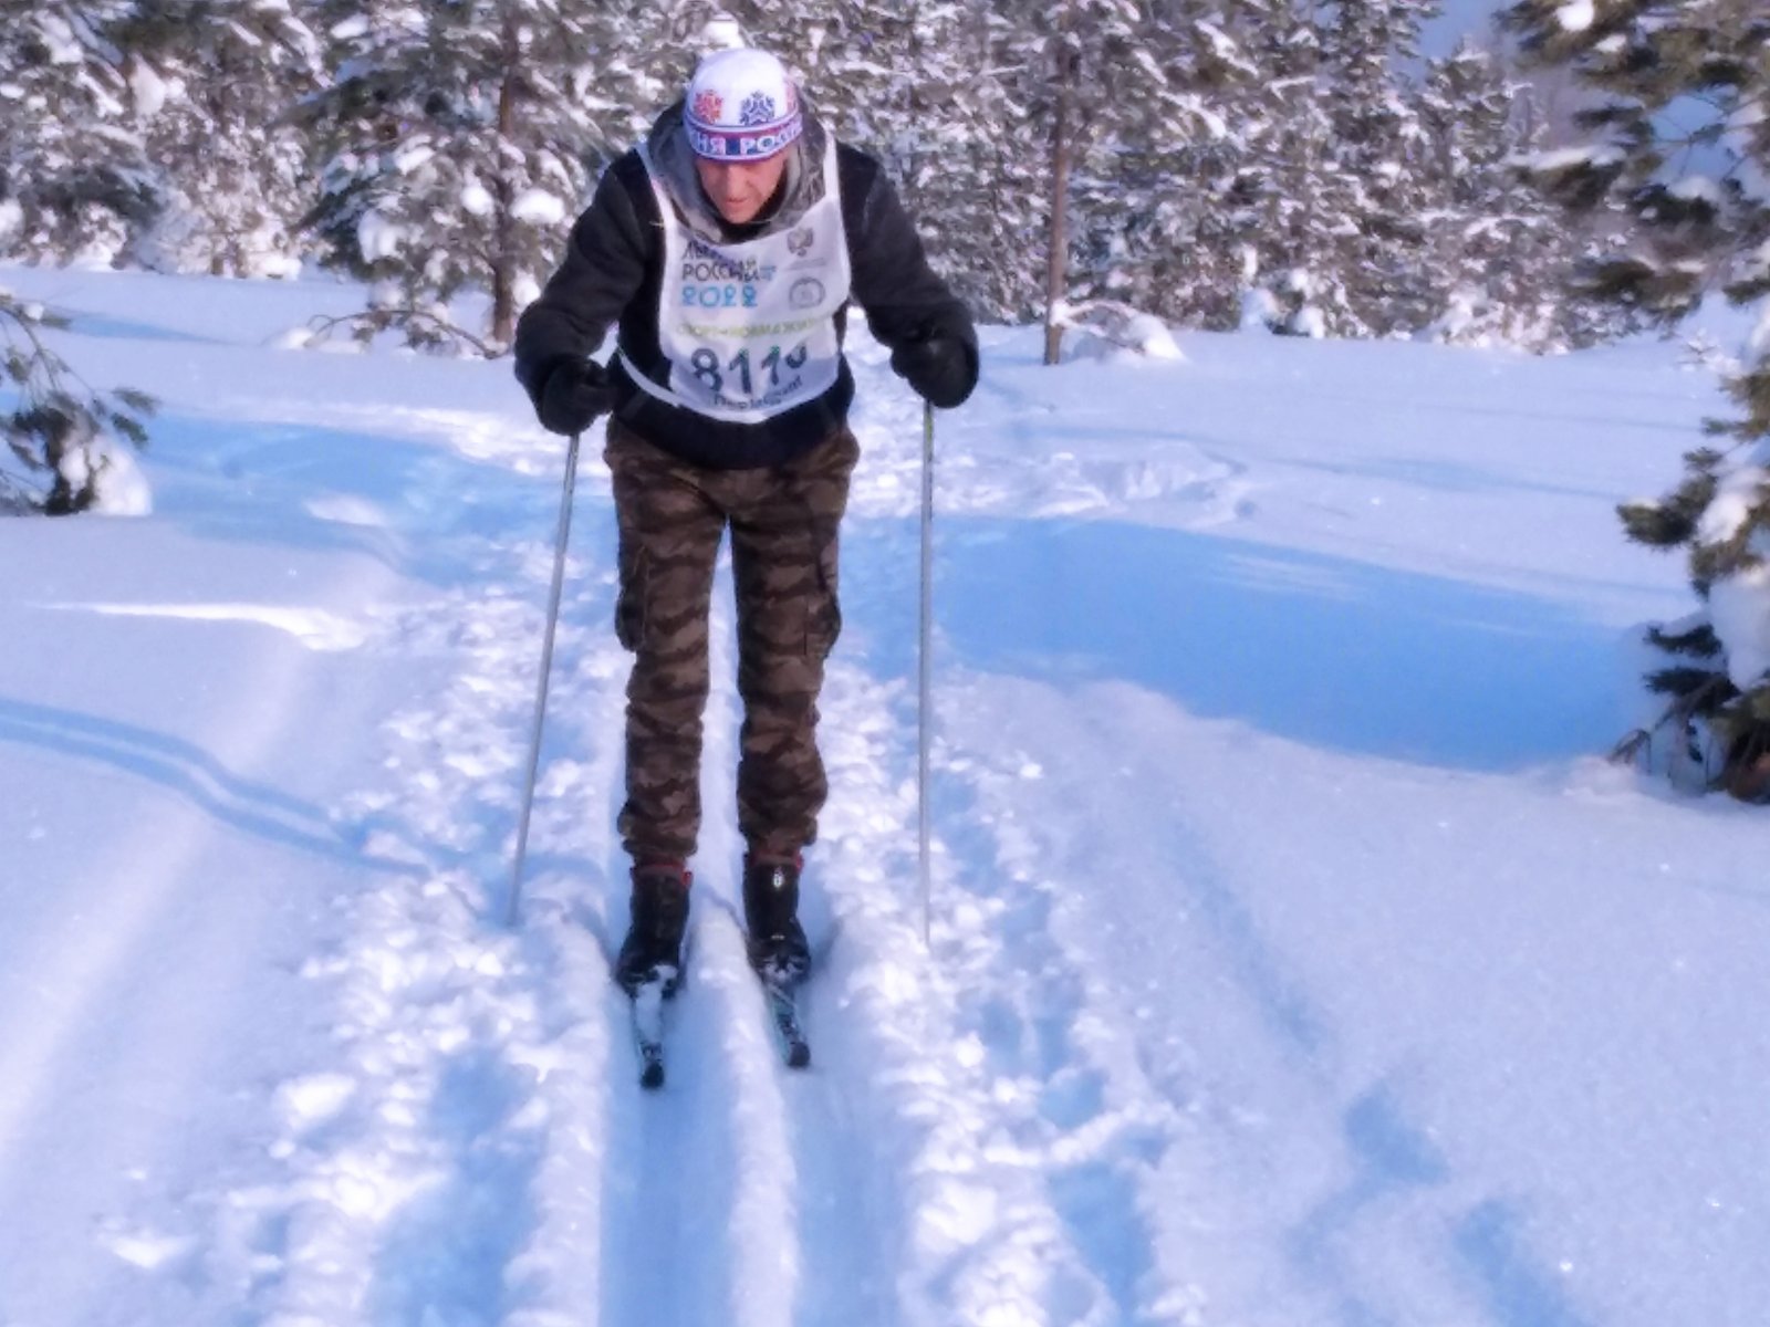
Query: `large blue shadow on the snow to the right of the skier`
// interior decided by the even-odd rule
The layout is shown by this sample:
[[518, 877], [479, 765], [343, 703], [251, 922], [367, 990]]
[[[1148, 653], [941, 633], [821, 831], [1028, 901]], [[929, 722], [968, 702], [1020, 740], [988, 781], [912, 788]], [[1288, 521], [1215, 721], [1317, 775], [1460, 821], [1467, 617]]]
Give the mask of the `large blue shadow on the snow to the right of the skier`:
[[[942, 671], [1131, 681], [1294, 741], [1481, 771], [1602, 750], [1623, 718], [1616, 630], [1556, 600], [1122, 522], [940, 529]], [[887, 531], [848, 529], [844, 587], [904, 580]], [[913, 637], [869, 646], [913, 674]]]

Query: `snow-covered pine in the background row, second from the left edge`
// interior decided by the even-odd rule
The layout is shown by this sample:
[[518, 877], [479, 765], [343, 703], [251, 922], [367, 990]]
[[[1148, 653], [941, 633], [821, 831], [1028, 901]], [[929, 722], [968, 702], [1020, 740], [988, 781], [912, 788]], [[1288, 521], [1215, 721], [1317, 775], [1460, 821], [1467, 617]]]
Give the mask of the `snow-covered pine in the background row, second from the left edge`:
[[283, 4], [135, 0], [115, 30], [163, 205], [140, 262], [214, 276], [292, 276], [308, 191], [289, 122], [319, 80], [319, 41]]

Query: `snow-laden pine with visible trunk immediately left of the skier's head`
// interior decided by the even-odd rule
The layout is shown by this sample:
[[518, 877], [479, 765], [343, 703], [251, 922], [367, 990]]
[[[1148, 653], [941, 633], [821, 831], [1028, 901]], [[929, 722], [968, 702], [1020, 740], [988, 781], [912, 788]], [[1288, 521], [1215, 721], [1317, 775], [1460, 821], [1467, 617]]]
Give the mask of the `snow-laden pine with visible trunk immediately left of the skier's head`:
[[[320, 0], [327, 85], [303, 108], [322, 149], [310, 219], [375, 281], [359, 336], [496, 352], [559, 258], [595, 172], [653, 110], [667, 5], [600, 0]], [[489, 295], [483, 338], [450, 301]]]

